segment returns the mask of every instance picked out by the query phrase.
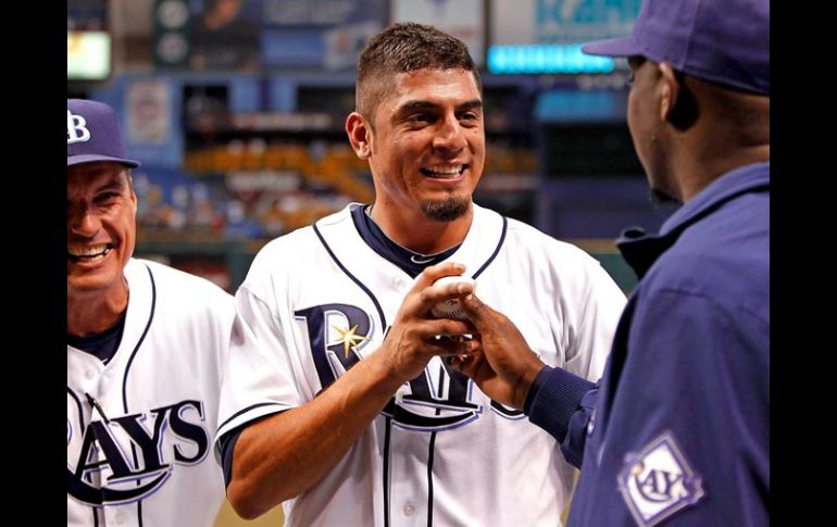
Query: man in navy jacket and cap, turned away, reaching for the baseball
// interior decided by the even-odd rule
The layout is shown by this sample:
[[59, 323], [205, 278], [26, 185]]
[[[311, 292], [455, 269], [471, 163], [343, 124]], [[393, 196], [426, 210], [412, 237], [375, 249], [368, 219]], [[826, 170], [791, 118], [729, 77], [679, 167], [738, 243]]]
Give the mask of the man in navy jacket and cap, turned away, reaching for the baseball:
[[770, 524], [770, 5], [646, 0], [627, 120], [653, 193], [683, 202], [619, 248], [640, 281], [597, 384], [544, 365], [463, 299], [482, 353], [457, 359], [582, 469], [569, 525]]

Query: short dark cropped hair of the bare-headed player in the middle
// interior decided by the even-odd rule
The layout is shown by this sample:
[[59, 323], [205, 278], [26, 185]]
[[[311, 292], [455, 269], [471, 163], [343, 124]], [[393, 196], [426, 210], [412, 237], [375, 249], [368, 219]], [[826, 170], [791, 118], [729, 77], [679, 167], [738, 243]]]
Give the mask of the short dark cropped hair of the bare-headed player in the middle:
[[483, 91], [479, 72], [462, 40], [429, 25], [397, 23], [372, 37], [361, 53], [355, 110], [372, 120], [375, 106], [392, 85], [391, 76], [424, 68], [465, 70], [474, 74]]

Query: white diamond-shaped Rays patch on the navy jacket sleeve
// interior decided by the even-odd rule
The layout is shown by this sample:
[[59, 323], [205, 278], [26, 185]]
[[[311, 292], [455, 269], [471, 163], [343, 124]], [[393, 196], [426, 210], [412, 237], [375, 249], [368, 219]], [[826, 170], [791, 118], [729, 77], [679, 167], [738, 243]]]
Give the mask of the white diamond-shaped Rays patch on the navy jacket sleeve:
[[700, 476], [665, 431], [637, 453], [625, 456], [617, 476], [619, 490], [630, 514], [642, 527], [658, 525], [704, 494]]

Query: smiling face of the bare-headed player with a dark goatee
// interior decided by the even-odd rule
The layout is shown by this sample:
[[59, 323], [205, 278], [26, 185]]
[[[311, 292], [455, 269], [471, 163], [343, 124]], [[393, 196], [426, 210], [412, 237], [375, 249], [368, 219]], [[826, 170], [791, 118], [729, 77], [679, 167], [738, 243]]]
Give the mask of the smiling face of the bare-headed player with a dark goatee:
[[372, 116], [353, 115], [363, 121], [365, 141], [355, 151], [370, 162], [376, 204], [421, 211], [436, 222], [470, 210], [485, 164], [483, 101], [471, 72], [396, 74]]

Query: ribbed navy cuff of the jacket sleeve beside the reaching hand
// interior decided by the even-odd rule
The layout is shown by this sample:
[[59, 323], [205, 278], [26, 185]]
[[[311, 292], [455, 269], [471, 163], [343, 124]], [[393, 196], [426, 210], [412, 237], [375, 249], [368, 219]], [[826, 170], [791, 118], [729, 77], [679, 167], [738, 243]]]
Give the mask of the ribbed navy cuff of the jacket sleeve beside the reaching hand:
[[560, 367], [545, 366], [526, 394], [523, 412], [532, 423], [563, 442], [570, 419], [582, 406], [584, 396], [595, 387], [595, 382]]

